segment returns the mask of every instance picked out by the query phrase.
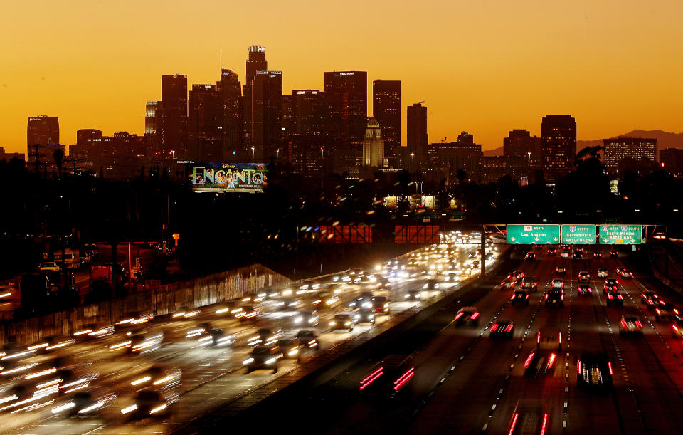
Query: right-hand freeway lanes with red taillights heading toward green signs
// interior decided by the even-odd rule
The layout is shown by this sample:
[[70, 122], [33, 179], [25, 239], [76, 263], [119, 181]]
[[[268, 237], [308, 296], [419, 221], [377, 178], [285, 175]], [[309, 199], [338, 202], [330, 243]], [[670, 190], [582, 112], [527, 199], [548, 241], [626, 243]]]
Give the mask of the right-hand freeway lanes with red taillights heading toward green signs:
[[[545, 249], [536, 254], [536, 261], [510, 265], [503, 276], [494, 277], [497, 280], [463, 293], [458, 303], [307, 392], [299, 402], [268, 409], [272, 421], [305, 413], [305, 426], [311, 429], [304, 432], [328, 434], [680, 433], [683, 344], [672, 330], [681, 320], [658, 321], [641, 294], [654, 291], [678, 307], [683, 297], [651, 278], [642, 256], [620, 253], [614, 258], [606, 246], [588, 246], [577, 259]], [[566, 271], [558, 273], [557, 266]], [[624, 266], [631, 268], [632, 277], [615, 274]], [[513, 290], [499, 290], [497, 284], [513, 268], [539, 283], [529, 305], [513, 305]], [[618, 278], [623, 306], [608, 305], [599, 268]], [[581, 271], [590, 277], [580, 283]], [[546, 306], [545, 296], [556, 278], [563, 279], [563, 307]], [[592, 292], [580, 295], [579, 285], [589, 285]], [[455, 326], [454, 315], [464, 305], [477, 306], [479, 325]], [[642, 335], [620, 334], [623, 315], [638, 318]], [[504, 321], [514, 324], [512, 337], [492, 337], [493, 326]], [[586, 353], [607, 357], [602, 372], [591, 369], [589, 374], [594, 380], [611, 377], [612, 386], [578, 384]], [[364, 383], [381, 382], [376, 370], [388, 367], [390, 355], [410, 355], [411, 378], [398, 392], [370, 391]], [[539, 360], [541, 355], [544, 359]], [[375, 373], [379, 377], [369, 377]], [[242, 423], [248, 428], [248, 422]]]

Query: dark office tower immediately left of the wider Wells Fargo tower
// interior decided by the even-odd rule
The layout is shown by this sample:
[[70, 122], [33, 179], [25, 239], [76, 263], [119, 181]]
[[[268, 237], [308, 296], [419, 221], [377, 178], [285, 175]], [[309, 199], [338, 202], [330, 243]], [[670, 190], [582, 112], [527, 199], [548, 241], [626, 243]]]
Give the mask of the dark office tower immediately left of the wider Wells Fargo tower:
[[302, 172], [324, 171], [328, 116], [325, 93], [314, 89], [292, 90], [292, 106], [292, 165]]

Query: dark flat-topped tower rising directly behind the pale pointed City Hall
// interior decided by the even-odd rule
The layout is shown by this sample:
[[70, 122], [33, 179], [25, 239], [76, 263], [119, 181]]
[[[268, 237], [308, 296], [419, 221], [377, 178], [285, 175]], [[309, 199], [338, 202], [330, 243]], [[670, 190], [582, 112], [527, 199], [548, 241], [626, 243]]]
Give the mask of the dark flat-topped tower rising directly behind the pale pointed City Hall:
[[387, 157], [401, 146], [401, 80], [372, 82], [372, 116], [379, 122]]

